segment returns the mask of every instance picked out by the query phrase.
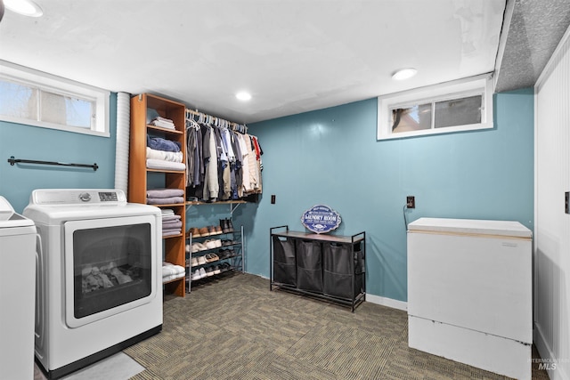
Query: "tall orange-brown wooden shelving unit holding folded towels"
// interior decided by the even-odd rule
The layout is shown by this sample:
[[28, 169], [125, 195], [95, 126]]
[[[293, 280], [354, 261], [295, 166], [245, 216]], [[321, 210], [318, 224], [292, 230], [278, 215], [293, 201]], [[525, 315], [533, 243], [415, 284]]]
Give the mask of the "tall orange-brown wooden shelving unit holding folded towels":
[[[171, 119], [175, 130], [147, 124], [147, 111], [156, 110], [161, 117]], [[183, 151], [183, 162], [186, 162], [186, 128], [185, 106], [183, 103], [170, 101], [150, 93], [142, 93], [131, 98], [131, 133], [129, 152], [128, 201], [146, 204], [146, 190], [168, 188], [186, 189], [185, 171], [156, 170], [146, 167], [147, 135], [162, 137], [170, 141], [178, 141]], [[155, 205], [157, 206], [157, 205]], [[186, 203], [160, 205], [160, 208], [171, 208], [181, 216], [183, 226], [180, 235], [164, 239], [164, 261], [185, 266], [184, 232], [186, 230]], [[184, 296], [185, 278], [175, 279], [165, 284], [168, 293]]]

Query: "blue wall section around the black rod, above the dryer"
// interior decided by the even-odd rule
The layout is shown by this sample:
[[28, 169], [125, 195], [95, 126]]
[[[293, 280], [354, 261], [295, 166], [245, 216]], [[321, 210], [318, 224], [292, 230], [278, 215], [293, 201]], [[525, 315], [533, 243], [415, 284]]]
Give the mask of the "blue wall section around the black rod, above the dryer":
[[[116, 93], [110, 95], [110, 137], [0, 121], [0, 196], [21, 213], [34, 189], [113, 188], [116, 130]], [[11, 166], [7, 161], [11, 156], [90, 165], [97, 163], [99, 169], [31, 164]]]

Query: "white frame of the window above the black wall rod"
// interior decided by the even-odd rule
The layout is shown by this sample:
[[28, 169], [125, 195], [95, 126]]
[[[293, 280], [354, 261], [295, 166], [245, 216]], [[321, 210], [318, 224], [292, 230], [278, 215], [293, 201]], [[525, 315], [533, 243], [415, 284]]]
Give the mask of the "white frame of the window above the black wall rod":
[[91, 128], [82, 128], [78, 126], [49, 123], [37, 119], [12, 117], [7, 115], [0, 115], [0, 120], [24, 125], [40, 126], [43, 128], [59, 129], [61, 131], [110, 137], [110, 91], [103, 90], [92, 85], [85, 85], [63, 77], [56, 77], [42, 71], [29, 69], [7, 61], [0, 61], [0, 78], [20, 83], [22, 85], [28, 85], [29, 87], [37, 88], [47, 93], [70, 96], [85, 101], [94, 101], [95, 122], [91, 125]]

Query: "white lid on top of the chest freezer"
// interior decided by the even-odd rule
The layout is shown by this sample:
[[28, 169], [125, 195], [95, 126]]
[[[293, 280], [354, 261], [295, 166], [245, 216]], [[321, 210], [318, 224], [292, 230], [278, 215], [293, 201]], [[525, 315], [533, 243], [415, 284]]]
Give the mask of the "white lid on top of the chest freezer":
[[408, 224], [409, 232], [442, 232], [532, 238], [533, 232], [520, 222], [479, 219], [419, 218]]

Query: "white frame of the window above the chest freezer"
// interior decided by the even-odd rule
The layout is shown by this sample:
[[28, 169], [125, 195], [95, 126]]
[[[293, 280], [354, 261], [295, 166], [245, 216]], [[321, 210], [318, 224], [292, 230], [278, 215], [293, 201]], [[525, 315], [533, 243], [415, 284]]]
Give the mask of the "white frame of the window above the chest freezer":
[[[481, 123], [469, 125], [452, 125], [419, 131], [392, 133], [391, 112], [395, 107], [411, 107], [433, 101], [450, 101], [473, 95], [483, 95]], [[433, 115], [432, 115], [433, 119]], [[429, 85], [401, 93], [391, 93], [378, 98], [377, 140], [402, 139], [440, 133], [452, 133], [493, 128], [493, 76], [484, 74], [468, 77], [439, 85]]]

